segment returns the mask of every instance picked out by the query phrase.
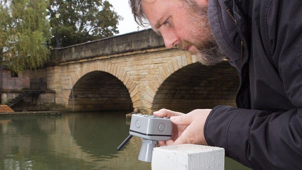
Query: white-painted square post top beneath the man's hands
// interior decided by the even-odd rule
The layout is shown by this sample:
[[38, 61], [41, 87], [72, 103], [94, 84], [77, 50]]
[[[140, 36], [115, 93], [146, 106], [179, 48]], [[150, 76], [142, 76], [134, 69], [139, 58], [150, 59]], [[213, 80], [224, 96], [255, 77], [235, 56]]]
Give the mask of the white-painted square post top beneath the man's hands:
[[153, 149], [152, 170], [224, 169], [224, 149], [183, 144]]

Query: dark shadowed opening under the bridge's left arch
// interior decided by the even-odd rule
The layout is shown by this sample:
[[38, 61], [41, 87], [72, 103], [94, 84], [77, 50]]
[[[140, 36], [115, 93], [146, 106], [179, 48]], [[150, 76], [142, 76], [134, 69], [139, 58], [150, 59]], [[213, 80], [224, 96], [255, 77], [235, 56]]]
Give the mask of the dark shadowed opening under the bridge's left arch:
[[82, 76], [70, 93], [68, 109], [75, 111], [133, 111], [126, 86], [117, 77], [103, 71], [93, 71]]

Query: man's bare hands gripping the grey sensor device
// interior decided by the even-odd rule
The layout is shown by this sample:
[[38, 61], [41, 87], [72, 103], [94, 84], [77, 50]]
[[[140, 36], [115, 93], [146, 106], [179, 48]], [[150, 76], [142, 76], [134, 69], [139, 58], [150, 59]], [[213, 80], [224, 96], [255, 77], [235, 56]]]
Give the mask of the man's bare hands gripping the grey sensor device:
[[158, 141], [158, 146], [179, 145], [185, 143], [208, 145], [205, 142], [204, 126], [212, 109], [196, 109], [187, 114], [168, 109], [153, 112], [154, 116], [169, 117], [173, 123], [172, 139]]

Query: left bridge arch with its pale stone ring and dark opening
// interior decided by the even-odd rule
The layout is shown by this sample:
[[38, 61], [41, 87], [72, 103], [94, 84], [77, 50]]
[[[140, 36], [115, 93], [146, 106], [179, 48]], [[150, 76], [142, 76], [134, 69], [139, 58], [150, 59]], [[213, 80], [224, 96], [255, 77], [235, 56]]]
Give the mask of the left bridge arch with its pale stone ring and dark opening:
[[[80, 63], [63, 79], [68, 82], [62, 91], [68, 110], [72, 110], [74, 103], [76, 111], [133, 111], [133, 103], [138, 100], [136, 82], [123, 68], [109, 62]], [[74, 102], [71, 89], [74, 90]]]

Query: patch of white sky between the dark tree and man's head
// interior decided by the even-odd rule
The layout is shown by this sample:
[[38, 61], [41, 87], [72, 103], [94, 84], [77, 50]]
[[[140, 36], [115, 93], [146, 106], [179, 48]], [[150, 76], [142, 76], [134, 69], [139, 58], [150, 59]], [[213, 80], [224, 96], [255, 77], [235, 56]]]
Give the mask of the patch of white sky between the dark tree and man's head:
[[[133, 19], [133, 15], [131, 9], [128, 4], [128, 0], [107, 0], [113, 6], [114, 11], [117, 12], [120, 16], [124, 18], [123, 21], [119, 21], [118, 29], [119, 34], [130, 33], [133, 31], [137, 31], [137, 24]], [[145, 28], [140, 27], [140, 30]]]

